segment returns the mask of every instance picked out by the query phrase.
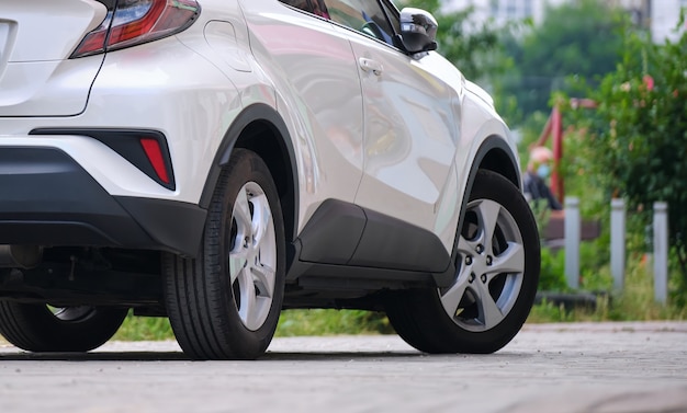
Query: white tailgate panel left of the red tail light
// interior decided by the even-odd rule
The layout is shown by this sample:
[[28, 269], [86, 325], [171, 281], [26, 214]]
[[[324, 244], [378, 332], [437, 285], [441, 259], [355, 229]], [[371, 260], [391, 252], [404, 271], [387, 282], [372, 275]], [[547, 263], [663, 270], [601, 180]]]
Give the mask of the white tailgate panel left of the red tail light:
[[0, 117], [83, 111], [103, 55], [67, 59], [105, 13], [92, 0], [0, 0]]

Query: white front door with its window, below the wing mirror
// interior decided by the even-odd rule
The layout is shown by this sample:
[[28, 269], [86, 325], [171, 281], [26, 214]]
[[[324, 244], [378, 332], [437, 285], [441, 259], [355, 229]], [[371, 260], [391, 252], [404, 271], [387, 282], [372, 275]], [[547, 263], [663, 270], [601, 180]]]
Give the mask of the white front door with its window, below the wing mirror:
[[459, 209], [460, 73], [447, 73], [435, 53], [409, 56], [395, 46], [399, 21], [391, 3], [325, 2], [331, 21], [348, 33], [362, 85], [364, 165], [356, 204], [428, 229], [450, 250]]

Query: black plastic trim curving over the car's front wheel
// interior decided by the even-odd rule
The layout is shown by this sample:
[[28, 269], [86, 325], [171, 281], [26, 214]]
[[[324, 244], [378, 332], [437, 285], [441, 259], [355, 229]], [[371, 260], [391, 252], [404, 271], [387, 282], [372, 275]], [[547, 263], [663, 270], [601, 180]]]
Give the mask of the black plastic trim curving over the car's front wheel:
[[[457, 259], [458, 259], [459, 233], [460, 233], [460, 229], [463, 228], [463, 221], [465, 219], [465, 209], [468, 208], [468, 199], [470, 198], [470, 192], [472, 191], [472, 186], [474, 185], [475, 176], [477, 175], [477, 172], [481, 169], [494, 170], [492, 165], [487, 165], [485, 168], [485, 164], [484, 164], [487, 156], [489, 153], [495, 153], [494, 151], [497, 151], [496, 153], [500, 156], [499, 158], [506, 157], [506, 159], [509, 160], [508, 165], [499, 165], [500, 167], [499, 170], [495, 170], [495, 172], [498, 172], [502, 175], [506, 176], [508, 181], [513, 182], [513, 184], [516, 185], [518, 188], [521, 187], [521, 182], [518, 177], [519, 176], [518, 175], [518, 171], [519, 171], [518, 161], [516, 159], [515, 153], [513, 153], [513, 151], [510, 150], [510, 147], [508, 146], [508, 144], [504, 140], [504, 138], [496, 136], [496, 135], [487, 137], [477, 149], [473, 164], [470, 168], [470, 173], [468, 175], [468, 181], [465, 184], [465, 193], [463, 194], [460, 215], [458, 218], [458, 228], [455, 230], [457, 236], [455, 236], [455, 240], [453, 241], [453, 250], [452, 250], [453, 252], [451, 253], [451, 263], [443, 273], [433, 274], [435, 283], [437, 284], [438, 287], [449, 287], [451, 283], [453, 282], [453, 278], [455, 277], [455, 272], [458, 271]], [[510, 176], [508, 176], [508, 174], [506, 173], [503, 173], [504, 168], [506, 168], [506, 171], [509, 172], [508, 174]]]

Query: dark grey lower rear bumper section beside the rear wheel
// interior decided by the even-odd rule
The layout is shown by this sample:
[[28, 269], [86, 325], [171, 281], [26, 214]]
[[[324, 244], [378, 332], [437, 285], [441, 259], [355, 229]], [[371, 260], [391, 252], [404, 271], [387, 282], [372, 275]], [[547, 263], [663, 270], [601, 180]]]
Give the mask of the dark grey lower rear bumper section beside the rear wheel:
[[205, 215], [193, 204], [112, 196], [57, 148], [0, 151], [0, 244], [151, 249], [195, 256]]

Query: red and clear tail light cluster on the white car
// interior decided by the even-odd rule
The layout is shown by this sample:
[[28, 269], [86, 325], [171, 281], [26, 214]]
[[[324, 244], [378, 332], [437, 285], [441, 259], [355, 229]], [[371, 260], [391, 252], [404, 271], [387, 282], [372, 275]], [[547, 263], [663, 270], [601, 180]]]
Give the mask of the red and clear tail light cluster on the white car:
[[71, 58], [153, 42], [185, 30], [200, 12], [195, 0], [117, 0]]

